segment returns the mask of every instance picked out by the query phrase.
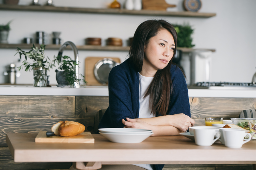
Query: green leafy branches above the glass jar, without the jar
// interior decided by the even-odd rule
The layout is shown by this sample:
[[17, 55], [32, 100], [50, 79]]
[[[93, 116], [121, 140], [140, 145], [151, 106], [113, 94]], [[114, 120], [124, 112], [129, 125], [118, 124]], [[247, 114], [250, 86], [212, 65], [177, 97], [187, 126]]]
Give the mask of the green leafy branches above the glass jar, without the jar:
[[[46, 68], [46, 69], [53, 68], [53, 66], [55, 65], [51, 63], [51, 60], [48, 56], [45, 56], [44, 49], [45, 49], [45, 45], [41, 45], [40, 48], [38, 49], [38, 47], [35, 47], [33, 44], [33, 47], [31, 47], [31, 50], [29, 52], [25, 52], [19, 47], [17, 47], [16, 51], [17, 53], [19, 53], [19, 58], [22, 59], [22, 56], [23, 55], [25, 56], [25, 60], [22, 62], [23, 65], [17, 68], [20, 70], [21, 68], [24, 67], [25, 71], [28, 71], [28, 70], [30, 71], [33, 68], [40, 68], [40, 67]], [[28, 58], [30, 58], [34, 62], [29, 63], [27, 61]]]

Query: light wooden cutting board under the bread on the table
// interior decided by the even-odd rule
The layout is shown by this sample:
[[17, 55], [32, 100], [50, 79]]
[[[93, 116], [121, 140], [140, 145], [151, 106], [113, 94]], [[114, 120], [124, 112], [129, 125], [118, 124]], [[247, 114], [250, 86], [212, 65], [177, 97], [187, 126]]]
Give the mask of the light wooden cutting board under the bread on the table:
[[59, 135], [47, 137], [46, 131], [40, 131], [35, 137], [35, 143], [94, 143], [94, 138], [90, 132], [83, 132], [70, 137]]

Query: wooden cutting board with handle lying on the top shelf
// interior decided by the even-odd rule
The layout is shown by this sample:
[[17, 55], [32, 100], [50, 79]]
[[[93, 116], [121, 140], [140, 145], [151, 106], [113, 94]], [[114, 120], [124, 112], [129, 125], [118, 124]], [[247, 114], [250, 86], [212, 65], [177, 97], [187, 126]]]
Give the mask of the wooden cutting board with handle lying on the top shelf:
[[168, 7], [176, 7], [176, 5], [168, 4], [165, 0], [142, 0], [143, 10], [166, 11]]

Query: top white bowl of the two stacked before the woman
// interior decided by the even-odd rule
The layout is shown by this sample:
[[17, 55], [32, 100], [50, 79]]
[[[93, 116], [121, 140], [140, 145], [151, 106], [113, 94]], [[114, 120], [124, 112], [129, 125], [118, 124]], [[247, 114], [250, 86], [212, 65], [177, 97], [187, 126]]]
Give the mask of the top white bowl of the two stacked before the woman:
[[131, 134], [144, 134], [144, 133], [152, 133], [152, 130], [146, 129], [132, 129], [132, 128], [101, 128], [100, 132], [103, 133], [131, 133]]

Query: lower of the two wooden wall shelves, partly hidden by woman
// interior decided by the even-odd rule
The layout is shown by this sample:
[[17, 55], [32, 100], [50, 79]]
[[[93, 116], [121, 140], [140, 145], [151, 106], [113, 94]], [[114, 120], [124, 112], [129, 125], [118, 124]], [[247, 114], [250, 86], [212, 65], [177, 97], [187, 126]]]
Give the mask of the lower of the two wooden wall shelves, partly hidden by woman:
[[[36, 47], [40, 47], [39, 44], [35, 44]], [[59, 50], [61, 45], [49, 44], [45, 46], [46, 50]], [[31, 44], [0, 44], [0, 49], [17, 49], [17, 47], [21, 49], [31, 49]], [[76, 46], [78, 50], [87, 50], [87, 51], [129, 51], [130, 46], [120, 47], [120, 46], [92, 46], [92, 45], [83, 45]], [[71, 50], [71, 47], [68, 46], [67, 50]], [[215, 52], [215, 49], [192, 49], [192, 48], [184, 48], [178, 47], [178, 50], [182, 52], [192, 52], [193, 50], [211, 50]]]

